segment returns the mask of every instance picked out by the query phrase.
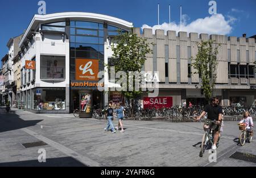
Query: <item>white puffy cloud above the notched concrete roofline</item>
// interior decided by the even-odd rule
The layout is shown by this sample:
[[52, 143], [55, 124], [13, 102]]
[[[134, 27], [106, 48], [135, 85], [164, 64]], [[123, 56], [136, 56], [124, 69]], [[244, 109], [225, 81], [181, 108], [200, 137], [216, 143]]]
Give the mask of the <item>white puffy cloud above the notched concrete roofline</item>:
[[188, 16], [183, 16], [183, 19], [185, 22], [182, 23], [181, 27], [179, 23], [176, 24], [175, 22], [171, 22], [171, 26], [169, 26], [169, 23], [164, 22], [159, 26], [155, 25], [153, 27], [143, 24], [141, 28], [142, 30], [144, 28], [152, 28], [153, 34], [155, 34], [156, 29], [162, 29], [165, 33], [167, 33], [168, 30], [172, 30], [176, 31], [176, 33], [179, 31], [186, 31], [188, 34], [189, 32], [197, 32], [198, 34], [228, 35], [232, 32], [232, 27], [230, 25], [236, 21], [236, 18], [233, 16], [228, 16], [228, 19], [226, 20], [222, 14], [207, 16], [204, 19], [196, 19], [189, 24], [187, 24]]

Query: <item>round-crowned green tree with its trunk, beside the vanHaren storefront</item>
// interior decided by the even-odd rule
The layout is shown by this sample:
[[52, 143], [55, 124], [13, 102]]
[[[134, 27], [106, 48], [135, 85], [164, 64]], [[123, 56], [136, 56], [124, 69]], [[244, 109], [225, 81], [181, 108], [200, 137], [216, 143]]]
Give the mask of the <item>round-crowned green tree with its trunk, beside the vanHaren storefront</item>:
[[[135, 78], [132, 80], [133, 84], [128, 84], [129, 72], [141, 72], [146, 61], [146, 54], [152, 53], [149, 45], [150, 44], [147, 43], [146, 39], [140, 38], [137, 34], [134, 34], [132, 30], [129, 32], [119, 31], [118, 35], [113, 38], [113, 43], [111, 45], [113, 59], [111, 64], [107, 65], [108, 69], [114, 67], [115, 73], [119, 71], [125, 72], [127, 77], [126, 86], [135, 86]], [[131, 116], [133, 117], [135, 99], [141, 96], [142, 90], [141, 88], [139, 91], [122, 90], [122, 94], [127, 98], [129, 106], [131, 106]]]

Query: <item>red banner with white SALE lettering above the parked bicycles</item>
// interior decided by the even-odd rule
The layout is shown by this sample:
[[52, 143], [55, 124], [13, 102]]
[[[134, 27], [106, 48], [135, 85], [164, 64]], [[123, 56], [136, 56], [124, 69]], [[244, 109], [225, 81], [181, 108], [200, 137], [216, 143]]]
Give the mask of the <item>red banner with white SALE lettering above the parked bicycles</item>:
[[172, 107], [172, 97], [144, 97], [143, 98], [143, 107], [144, 109], [148, 107], [156, 107], [156, 108], [162, 108], [162, 107]]

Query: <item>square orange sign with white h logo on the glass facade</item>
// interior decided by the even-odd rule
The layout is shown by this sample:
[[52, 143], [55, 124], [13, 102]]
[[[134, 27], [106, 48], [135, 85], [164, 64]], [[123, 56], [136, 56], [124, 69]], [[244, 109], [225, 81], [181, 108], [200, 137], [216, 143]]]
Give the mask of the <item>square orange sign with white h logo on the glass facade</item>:
[[98, 81], [98, 59], [76, 59], [76, 80]]

